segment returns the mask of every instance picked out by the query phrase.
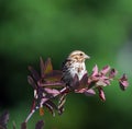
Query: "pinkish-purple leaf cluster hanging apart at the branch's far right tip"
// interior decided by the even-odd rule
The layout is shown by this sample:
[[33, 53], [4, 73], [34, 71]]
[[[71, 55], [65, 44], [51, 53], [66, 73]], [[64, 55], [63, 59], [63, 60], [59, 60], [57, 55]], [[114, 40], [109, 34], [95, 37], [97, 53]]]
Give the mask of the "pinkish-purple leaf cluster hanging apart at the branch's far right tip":
[[121, 90], [125, 90], [129, 86], [129, 82], [128, 82], [128, 78], [125, 74], [123, 74], [120, 79], [119, 79], [119, 84]]

